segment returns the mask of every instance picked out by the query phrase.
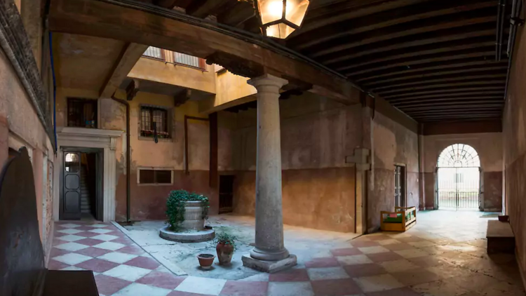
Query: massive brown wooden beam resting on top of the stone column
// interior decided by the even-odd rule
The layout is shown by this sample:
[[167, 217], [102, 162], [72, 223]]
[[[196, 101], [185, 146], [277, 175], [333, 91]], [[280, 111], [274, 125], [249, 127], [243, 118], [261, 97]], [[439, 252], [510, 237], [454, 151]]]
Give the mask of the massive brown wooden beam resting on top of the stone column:
[[254, 75], [264, 72], [289, 76], [311, 83], [311, 92], [324, 93], [346, 104], [359, 102], [358, 88], [353, 83], [315, 62], [285, 52], [275, 43], [220, 29], [210, 22], [188, 19], [175, 11], [141, 6], [133, 1], [126, 2], [125, 6], [115, 1], [110, 4], [106, 1], [53, 0], [48, 20], [53, 32], [149, 44], [198, 58], [228, 55], [227, 60], [235, 65], [222, 65], [227, 69], [244, 69]]

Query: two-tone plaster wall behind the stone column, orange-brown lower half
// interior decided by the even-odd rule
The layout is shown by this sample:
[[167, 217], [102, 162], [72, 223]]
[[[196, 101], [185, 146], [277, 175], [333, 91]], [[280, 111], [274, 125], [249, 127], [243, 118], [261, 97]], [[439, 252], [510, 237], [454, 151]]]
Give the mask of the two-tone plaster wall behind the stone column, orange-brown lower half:
[[[255, 214], [257, 110], [237, 114], [234, 213]], [[345, 163], [361, 143], [361, 106], [306, 93], [280, 101], [283, 222], [354, 231], [355, 168]]]

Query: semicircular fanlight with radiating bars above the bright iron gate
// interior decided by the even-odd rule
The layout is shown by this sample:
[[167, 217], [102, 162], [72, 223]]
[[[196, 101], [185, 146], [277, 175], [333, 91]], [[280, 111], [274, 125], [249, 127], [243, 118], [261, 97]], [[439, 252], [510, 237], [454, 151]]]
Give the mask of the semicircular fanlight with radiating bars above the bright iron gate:
[[480, 166], [480, 159], [473, 147], [466, 144], [452, 144], [438, 156], [439, 168], [473, 168]]

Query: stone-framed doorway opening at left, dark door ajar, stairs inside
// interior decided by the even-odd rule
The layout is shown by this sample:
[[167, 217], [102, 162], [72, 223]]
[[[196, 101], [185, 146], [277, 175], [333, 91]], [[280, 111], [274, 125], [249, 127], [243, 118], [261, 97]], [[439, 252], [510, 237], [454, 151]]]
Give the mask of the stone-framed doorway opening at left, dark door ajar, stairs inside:
[[102, 220], [102, 152], [64, 152], [60, 220]]

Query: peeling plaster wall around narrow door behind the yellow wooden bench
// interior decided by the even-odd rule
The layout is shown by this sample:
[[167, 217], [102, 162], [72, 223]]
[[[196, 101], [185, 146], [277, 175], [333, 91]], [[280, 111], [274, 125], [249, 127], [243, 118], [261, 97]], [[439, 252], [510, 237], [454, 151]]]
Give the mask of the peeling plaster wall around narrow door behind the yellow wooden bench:
[[419, 207], [418, 135], [414, 131], [375, 113], [372, 121], [372, 188], [367, 199], [367, 228], [375, 231], [380, 226], [380, 212], [394, 210], [394, 168], [405, 165], [406, 205]]

